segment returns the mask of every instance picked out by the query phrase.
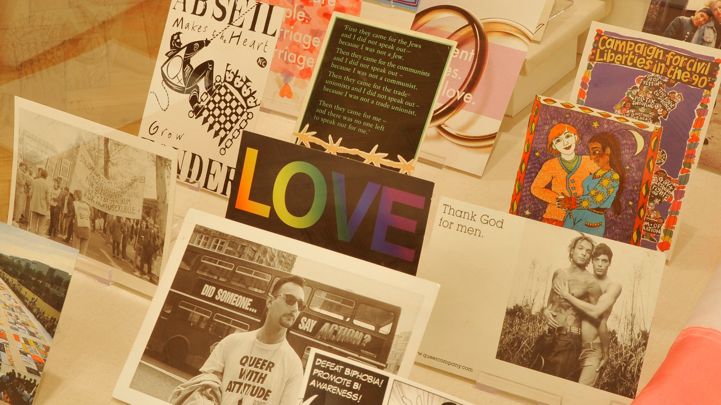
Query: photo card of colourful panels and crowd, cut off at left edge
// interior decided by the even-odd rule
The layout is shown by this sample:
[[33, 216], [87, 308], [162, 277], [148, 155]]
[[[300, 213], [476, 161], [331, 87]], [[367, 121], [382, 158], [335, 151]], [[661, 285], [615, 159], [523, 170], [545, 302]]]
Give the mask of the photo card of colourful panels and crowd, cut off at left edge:
[[0, 401], [32, 404], [78, 251], [0, 224]]

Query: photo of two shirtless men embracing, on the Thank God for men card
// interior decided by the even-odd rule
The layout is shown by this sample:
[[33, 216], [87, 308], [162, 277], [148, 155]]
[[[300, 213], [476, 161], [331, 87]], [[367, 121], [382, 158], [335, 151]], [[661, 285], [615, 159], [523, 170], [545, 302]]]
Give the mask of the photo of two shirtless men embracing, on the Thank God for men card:
[[634, 398], [663, 258], [541, 226], [523, 233], [496, 358]]

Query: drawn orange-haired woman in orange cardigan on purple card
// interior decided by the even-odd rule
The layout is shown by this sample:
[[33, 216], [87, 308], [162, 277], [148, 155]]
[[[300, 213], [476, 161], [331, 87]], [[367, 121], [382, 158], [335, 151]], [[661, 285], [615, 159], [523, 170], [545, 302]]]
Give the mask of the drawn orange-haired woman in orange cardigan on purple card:
[[556, 124], [548, 134], [547, 150], [558, 157], [544, 163], [531, 183], [531, 194], [548, 203], [542, 222], [562, 227], [567, 213], [559, 206], [563, 196], [582, 195], [583, 180], [598, 170], [590, 157], [576, 155], [579, 139], [578, 129], [564, 123]]

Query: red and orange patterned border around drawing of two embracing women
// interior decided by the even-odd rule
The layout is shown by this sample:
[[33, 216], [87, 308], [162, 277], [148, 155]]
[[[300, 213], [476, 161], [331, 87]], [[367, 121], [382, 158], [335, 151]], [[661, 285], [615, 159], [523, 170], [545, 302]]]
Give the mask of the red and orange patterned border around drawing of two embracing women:
[[536, 96], [533, 107], [531, 107], [531, 118], [528, 120], [528, 129], [526, 131], [526, 140], [523, 142], [523, 155], [521, 156], [521, 165], [518, 166], [518, 173], [516, 174], [516, 183], [513, 183], [513, 196], [510, 201], [510, 214], [518, 215], [518, 205], [521, 201], [521, 194], [523, 193], [523, 180], [526, 177], [526, 169], [528, 168], [528, 159], [531, 156], [531, 145], [534, 142], [534, 135], [536, 132], [536, 126], [538, 125], [539, 115], [541, 113], [541, 105], [547, 106], [561, 106], [565, 109], [583, 112], [585, 114], [596, 115], [606, 119], [614, 119], [617, 122], [624, 124], [634, 125], [639, 129], [651, 129], [651, 139], [649, 143], [648, 152], [645, 159], [643, 173], [641, 176], [642, 186], [641, 195], [639, 196], [636, 215], [634, 219], [634, 225], [631, 234], [631, 240], [629, 243], [632, 245], [641, 244], [641, 234], [643, 229], [643, 220], [646, 214], [646, 205], [651, 192], [651, 181], [653, 180], [653, 168], [656, 165], [656, 156], [658, 155], [658, 148], [660, 146], [661, 127], [652, 126], [645, 122], [634, 121], [620, 115], [610, 114], [601, 110], [590, 109], [586, 106], [579, 106], [565, 101], [557, 101], [551, 98], [541, 98]]

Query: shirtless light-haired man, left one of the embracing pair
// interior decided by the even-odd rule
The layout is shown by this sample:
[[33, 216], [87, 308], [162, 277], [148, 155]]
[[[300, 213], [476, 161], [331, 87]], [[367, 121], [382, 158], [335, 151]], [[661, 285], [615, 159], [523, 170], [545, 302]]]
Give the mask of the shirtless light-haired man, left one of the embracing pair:
[[[557, 269], [551, 285], [567, 286], [576, 299], [595, 305], [601, 296], [601, 286], [586, 266], [590, 262], [595, 243], [588, 236], [571, 240], [568, 246], [568, 268]], [[567, 380], [578, 381], [579, 356], [582, 339], [583, 313], [563, 299], [552, 287], [548, 306], [544, 310], [548, 329], [536, 340], [531, 368]]]

